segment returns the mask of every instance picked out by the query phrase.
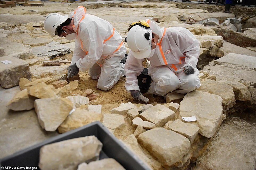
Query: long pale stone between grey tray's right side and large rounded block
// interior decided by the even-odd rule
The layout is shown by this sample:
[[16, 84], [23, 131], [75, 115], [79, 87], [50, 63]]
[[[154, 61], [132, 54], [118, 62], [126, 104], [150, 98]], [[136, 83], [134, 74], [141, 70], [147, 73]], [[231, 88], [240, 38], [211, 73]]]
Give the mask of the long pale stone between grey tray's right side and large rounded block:
[[138, 144], [138, 141], [133, 134], [129, 135], [124, 142], [128, 147], [130, 147], [134, 155], [138, 156], [142, 162], [145, 162], [153, 169], [160, 169], [162, 164], [152, 158], [150, 154], [144, 152], [144, 149]]

